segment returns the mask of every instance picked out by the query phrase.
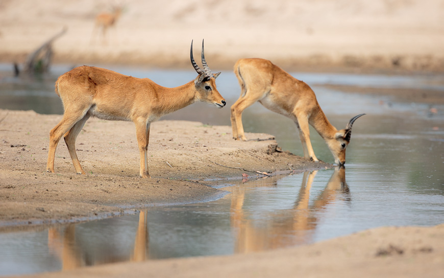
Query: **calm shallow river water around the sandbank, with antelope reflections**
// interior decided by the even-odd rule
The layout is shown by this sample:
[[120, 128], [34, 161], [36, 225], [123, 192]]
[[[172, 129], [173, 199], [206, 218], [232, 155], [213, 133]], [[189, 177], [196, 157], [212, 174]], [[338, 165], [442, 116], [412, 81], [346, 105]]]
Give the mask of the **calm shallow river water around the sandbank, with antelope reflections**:
[[[53, 84], [65, 69], [59, 66], [54, 75], [39, 79], [18, 80], [5, 74], [0, 81], [0, 108], [61, 113]], [[195, 77], [192, 71], [114, 70], [149, 76], [169, 87]], [[151, 207], [124, 217], [3, 233], [0, 275], [120, 261], [247, 253], [312, 243], [378, 226], [444, 223], [444, 107], [323, 87], [339, 84], [444, 90], [441, 77], [293, 76], [312, 86], [336, 127], [344, 127], [356, 114], [367, 113], [353, 126], [346, 170], [239, 179], [221, 188], [231, 194], [212, 202]], [[239, 95], [234, 75], [223, 72], [217, 85], [230, 106]], [[32, 101], [22, 103], [23, 98]], [[430, 108], [437, 112], [430, 112]], [[228, 108], [193, 104], [165, 119], [229, 125], [229, 114]], [[302, 155], [295, 125], [281, 115], [255, 104], [245, 110], [243, 124], [245, 131], [274, 134], [283, 149]], [[314, 130], [311, 138], [316, 156], [332, 162], [330, 151]]]

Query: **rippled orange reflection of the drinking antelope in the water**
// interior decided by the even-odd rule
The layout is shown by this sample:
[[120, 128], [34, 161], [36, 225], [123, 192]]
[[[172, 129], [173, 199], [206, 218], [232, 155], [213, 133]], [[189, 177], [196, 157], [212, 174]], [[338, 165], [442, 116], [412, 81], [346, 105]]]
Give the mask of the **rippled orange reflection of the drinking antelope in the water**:
[[[345, 169], [336, 167], [326, 187], [310, 204], [310, 189], [316, 174], [317, 171], [305, 172], [299, 196], [293, 206], [287, 210], [269, 212], [270, 215], [265, 217], [269, 220], [264, 225], [259, 225], [257, 217], [252, 217], [243, 208], [245, 186], [276, 186], [278, 178], [254, 180], [243, 187], [232, 188], [235, 196], [231, 199], [230, 221], [235, 233], [235, 253], [250, 253], [310, 242], [313, 230], [319, 223], [318, 213], [336, 200], [351, 200]], [[270, 183], [270, 178], [275, 180]]]

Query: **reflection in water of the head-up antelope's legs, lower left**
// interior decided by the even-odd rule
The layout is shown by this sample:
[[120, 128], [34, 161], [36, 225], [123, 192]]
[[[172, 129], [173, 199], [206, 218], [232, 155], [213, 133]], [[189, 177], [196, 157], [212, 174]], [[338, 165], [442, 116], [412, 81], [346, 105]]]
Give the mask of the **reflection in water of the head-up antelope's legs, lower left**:
[[106, 256], [94, 256], [88, 248], [82, 248], [81, 245], [76, 241], [76, 224], [69, 224], [64, 229], [57, 227], [48, 229], [48, 248], [60, 259], [62, 270], [122, 261], [140, 262], [148, 259], [149, 234], [146, 211], [139, 213], [134, 248], [129, 256], [112, 249], [104, 252]]

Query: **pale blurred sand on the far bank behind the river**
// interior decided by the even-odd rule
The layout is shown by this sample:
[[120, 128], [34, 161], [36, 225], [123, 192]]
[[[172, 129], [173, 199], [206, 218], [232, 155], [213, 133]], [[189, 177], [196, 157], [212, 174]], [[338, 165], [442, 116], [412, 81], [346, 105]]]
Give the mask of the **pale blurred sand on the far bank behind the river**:
[[57, 62], [189, 68], [191, 39], [205, 38], [207, 61], [219, 69], [246, 57], [304, 71], [444, 69], [440, 0], [120, 3], [124, 12], [104, 40], [94, 18], [111, 10], [109, 1], [0, 1], [0, 61], [23, 62], [67, 27], [54, 43]]

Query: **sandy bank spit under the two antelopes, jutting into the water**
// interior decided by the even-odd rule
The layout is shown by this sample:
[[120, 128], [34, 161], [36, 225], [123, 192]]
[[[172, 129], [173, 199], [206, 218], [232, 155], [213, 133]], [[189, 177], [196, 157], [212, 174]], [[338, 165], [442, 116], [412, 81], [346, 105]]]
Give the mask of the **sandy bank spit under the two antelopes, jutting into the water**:
[[0, 123], [0, 229], [17, 221], [105, 217], [119, 214], [122, 206], [205, 201], [219, 196], [205, 185], [218, 179], [330, 167], [277, 151], [269, 134], [249, 134], [261, 141], [239, 142], [228, 126], [159, 121], [150, 134], [153, 178], [145, 180], [139, 178], [134, 124], [90, 119], [76, 145], [87, 175], [76, 175], [64, 142], [56, 151], [56, 173], [46, 173], [49, 130], [62, 116], [0, 110], [0, 117], [5, 115]]

